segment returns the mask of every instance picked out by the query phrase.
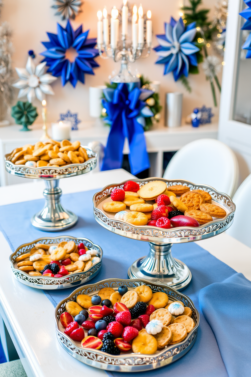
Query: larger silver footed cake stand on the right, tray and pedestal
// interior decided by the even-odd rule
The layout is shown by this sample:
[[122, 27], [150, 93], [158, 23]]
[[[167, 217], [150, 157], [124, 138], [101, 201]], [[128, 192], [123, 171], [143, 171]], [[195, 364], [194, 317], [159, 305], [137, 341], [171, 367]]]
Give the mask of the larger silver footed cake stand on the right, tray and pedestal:
[[140, 187], [150, 181], [163, 181], [166, 182], [169, 191], [172, 191], [172, 185], [187, 185], [191, 190], [204, 190], [211, 195], [212, 204], [220, 205], [227, 212], [224, 218], [213, 218], [213, 221], [198, 228], [176, 227], [163, 229], [149, 225], [137, 227], [123, 220], [115, 219], [113, 213], [105, 212], [102, 209], [103, 201], [111, 201], [111, 191], [114, 188], [122, 189], [126, 181], [108, 185], [94, 195], [93, 213], [94, 218], [100, 225], [120, 236], [149, 242], [149, 254], [137, 259], [129, 267], [129, 278], [146, 279], [152, 283], [164, 283], [181, 291], [190, 283], [192, 274], [186, 264], [172, 256], [172, 244], [199, 241], [224, 232], [233, 222], [235, 204], [227, 194], [220, 193], [213, 187], [204, 184], [193, 184], [180, 179], [167, 180], [163, 178], [132, 179], [132, 181], [137, 182]]

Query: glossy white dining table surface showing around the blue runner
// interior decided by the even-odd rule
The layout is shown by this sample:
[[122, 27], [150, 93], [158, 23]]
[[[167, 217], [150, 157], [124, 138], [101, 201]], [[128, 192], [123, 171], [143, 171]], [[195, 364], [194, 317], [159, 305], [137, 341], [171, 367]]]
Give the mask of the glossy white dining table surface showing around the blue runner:
[[[130, 178], [134, 176], [123, 169], [91, 172], [62, 179], [60, 187], [66, 194], [99, 189]], [[43, 198], [43, 188], [41, 181], [0, 187], [0, 205]], [[225, 233], [196, 243], [251, 280], [251, 248]], [[9, 264], [12, 250], [1, 232], [0, 245], [0, 313], [27, 376], [107, 376], [105, 371], [74, 359], [61, 347], [56, 338], [55, 308], [43, 291], [20, 284], [12, 276]]]

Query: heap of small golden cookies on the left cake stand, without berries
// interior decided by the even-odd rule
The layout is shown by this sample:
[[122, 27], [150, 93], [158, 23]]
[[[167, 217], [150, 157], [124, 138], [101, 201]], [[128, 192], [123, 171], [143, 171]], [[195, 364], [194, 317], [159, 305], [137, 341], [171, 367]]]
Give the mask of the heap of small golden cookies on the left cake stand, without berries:
[[10, 156], [15, 165], [30, 167], [66, 166], [69, 164], [82, 164], [89, 156], [80, 141], [71, 143], [69, 140], [61, 142], [48, 139], [43, 143], [38, 141], [35, 145], [26, 144], [13, 150]]

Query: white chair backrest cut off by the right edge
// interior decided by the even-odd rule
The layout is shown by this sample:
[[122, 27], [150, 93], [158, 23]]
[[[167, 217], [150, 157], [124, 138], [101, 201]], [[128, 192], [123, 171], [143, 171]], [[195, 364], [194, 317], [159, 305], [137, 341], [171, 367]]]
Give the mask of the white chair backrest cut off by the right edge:
[[251, 247], [251, 218], [248, 210], [247, 202], [251, 193], [251, 174], [242, 182], [233, 197], [233, 202], [236, 205], [234, 214], [234, 221], [230, 228], [226, 231], [227, 234], [236, 238], [243, 244]]

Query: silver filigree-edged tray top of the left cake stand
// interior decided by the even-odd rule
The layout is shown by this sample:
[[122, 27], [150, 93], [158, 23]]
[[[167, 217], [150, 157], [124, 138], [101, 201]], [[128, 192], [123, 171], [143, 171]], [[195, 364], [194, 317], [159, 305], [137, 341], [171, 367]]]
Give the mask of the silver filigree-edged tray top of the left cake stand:
[[91, 148], [82, 146], [86, 149], [89, 159], [82, 164], [69, 164], [65, 167], [30, 167], [25, 165], [15, 165], [10, 161], [11, 153], [5, 155], [5, 169], [8, 173], [17, 175], [24, 178], [35, 179], [61, 179], [73, 177], [90, 172], [97, 163], [97, 152], [91, 150]]

